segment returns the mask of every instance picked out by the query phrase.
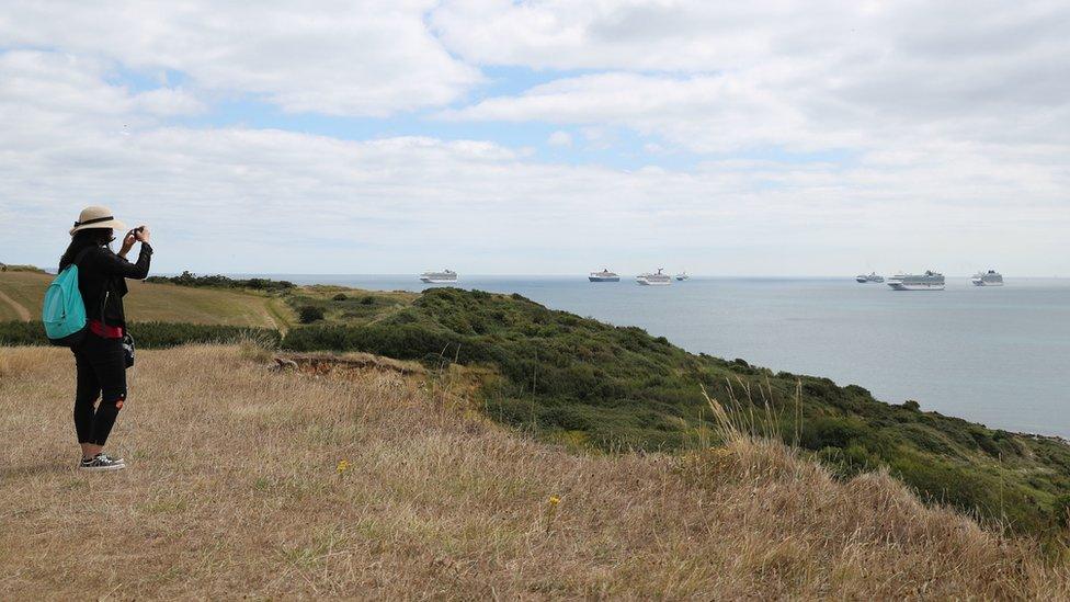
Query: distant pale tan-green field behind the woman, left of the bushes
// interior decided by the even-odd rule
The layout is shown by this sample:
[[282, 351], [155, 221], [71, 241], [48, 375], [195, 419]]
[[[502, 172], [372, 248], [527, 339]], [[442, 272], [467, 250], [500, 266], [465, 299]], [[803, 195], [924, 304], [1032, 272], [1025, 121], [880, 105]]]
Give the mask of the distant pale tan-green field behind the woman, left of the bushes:
[[[0, 273], [0, 293], [5, 294], [39, 319], [41, 303], [52, 282], [50, 275], [31, 272]], [[231, 326], [264, 326], [275, 328], [278, 319], [273, 311], [288, 316], [269, 304], [281, 306], [266, 295], [242, 291], [190, 288], [170, 284], [128, 282], [130, 294], [125, 299], [130, 321], [170, 321]], [[0, 320], [20, 319], [10, 304], [0, 299]]]

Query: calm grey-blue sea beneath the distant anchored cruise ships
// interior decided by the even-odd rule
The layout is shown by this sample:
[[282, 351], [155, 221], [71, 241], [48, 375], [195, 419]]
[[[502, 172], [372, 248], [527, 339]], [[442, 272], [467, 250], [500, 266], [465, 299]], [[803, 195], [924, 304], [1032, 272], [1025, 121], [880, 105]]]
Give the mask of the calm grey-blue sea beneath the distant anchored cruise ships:
[[[421, 291], [412, 275], [272, 275], [300, 284]], [[1006, 279], [979, 288], [896, 292], [853, 277], [703, 279], [672, 286], [585, 276], [465, 276], [693, 352], [861, 385], [881, 400], [993, 428], [1070, 438], [1070, 280]]]

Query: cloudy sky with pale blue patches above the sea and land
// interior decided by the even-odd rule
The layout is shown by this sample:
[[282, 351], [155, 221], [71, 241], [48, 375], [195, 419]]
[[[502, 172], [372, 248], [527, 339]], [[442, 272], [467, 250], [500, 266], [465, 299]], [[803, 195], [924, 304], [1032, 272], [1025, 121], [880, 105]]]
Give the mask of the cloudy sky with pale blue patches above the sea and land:
[[1070, 275], [1066, 0], [107, 4], [0, 9], [0, 261]]

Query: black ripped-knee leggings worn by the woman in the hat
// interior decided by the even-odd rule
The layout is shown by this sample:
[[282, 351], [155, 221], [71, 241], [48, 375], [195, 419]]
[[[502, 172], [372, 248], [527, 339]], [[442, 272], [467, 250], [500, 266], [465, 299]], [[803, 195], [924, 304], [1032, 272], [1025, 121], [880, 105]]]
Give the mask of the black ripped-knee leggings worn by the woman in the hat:
[[[78, 442], [103, 445], [126, 400], [123, 340], [104, 339], [88, 332], [86, 340], [72, 351], [78, 367], [78, 389], [75, 394]], [[94, 408], [96, 399], [101, 402]]]

